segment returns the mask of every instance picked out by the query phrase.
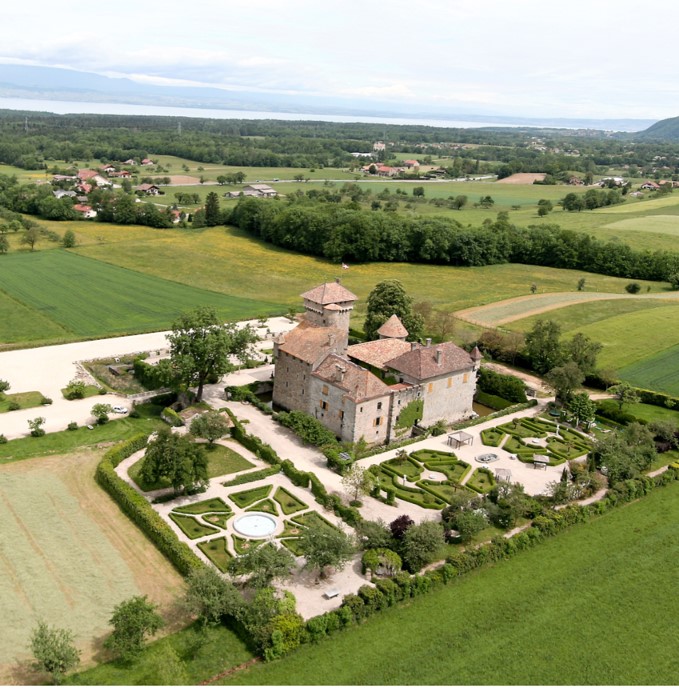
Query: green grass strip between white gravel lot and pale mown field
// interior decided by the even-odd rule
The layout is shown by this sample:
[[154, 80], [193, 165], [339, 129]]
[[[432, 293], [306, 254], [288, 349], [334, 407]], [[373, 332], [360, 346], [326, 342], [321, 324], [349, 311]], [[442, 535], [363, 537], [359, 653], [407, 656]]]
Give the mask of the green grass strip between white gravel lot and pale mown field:
[[[93, 447], [100, 443], [115, 443], [137, 433], [153, 433], [162, 425], [154, 418], [133, 419], [125, 417], [110, 421], [103, 426], [93, 426], [92, 430], [81, 427], [75, 431], [48, 433], [41, 438], [17, 438], [0, 445], [0, 464], [16, 462], [29, 457], [63, 455], [78, 448]], [[28, 434], [28, 426], [26, 427]]]

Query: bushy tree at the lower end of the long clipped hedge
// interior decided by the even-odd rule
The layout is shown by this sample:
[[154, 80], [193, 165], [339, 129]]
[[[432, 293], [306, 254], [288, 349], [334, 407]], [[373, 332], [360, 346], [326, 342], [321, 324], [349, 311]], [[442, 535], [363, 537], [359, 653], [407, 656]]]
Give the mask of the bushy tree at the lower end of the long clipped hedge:
[[212, 567], [194, 569], [187, 577], [183, 605], [203, 626], [214, 626], [224, 616], [238, 617], [245, 601], [240, 591]]

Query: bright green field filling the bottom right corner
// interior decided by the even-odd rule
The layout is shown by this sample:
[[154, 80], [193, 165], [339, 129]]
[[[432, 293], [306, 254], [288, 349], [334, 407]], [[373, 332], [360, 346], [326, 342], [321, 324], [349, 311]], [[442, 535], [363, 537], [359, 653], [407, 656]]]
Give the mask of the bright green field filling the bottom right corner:
[[676, 685], [677, 519], [673, 484], [223, 683]]

